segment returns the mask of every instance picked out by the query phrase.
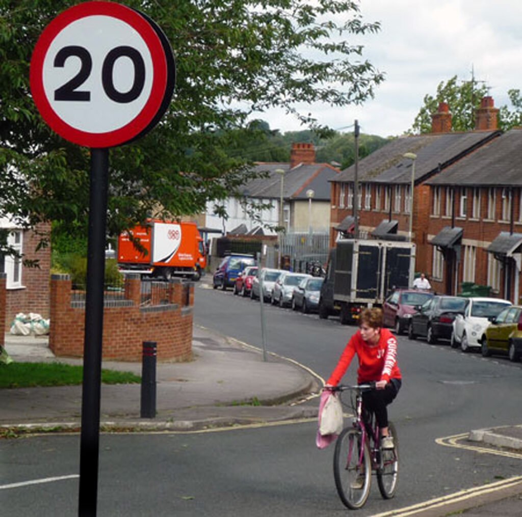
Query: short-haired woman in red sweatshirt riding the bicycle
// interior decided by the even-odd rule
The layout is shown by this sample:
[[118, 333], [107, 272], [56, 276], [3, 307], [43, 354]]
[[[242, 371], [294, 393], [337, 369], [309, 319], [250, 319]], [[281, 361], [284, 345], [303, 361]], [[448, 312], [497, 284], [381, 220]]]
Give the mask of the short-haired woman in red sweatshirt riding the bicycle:
[[341, 354], [339, 363], [330, 375], [325, 389], [337, 386], [350, 366], [353, 356], [359, 358], [357, 370], [359, 384], [375, 382], [375, 390], [363, 393], [366, 410], [375, 413], [381, 429], [381, 446], [393, 449], [393, 438], [388, 436], [388, 410], [401, 386], [401, 374], [397, 365], [397, 340], [388, 329], [383, 328], [381, 309], [364, 309], [361, 312], [359, 330], [352, 335]]

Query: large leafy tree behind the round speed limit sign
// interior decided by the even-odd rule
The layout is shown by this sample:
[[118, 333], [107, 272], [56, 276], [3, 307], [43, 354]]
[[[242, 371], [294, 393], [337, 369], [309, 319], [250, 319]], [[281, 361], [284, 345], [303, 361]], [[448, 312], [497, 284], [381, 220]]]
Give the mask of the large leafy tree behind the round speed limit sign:
[[[0, 217], [10, 214], [27, 226], [52, 220], [65, 234], [86, 228], [89, 150], [43, 123], [30, 95], [29, 64], [43, 28], [71, 4], [0, 0]], [[252, 173], [248, 160], [225, 150], [245, 143], [245, 131], [238, 129], [251, 113], [278, 106], [317, 127], [312, 114], [295, 109], [297, 102], [361, 103], [383, 80], [361, 59], [363, 47], [343, 39], [379, 29], [362, 21], [357, 2], [126, 4], [167, 35], [176, 56], [176, 86], [155, 129], [111, 150], [110, 234], [152, 214], [192, 214], [208, 200], [238, 193]], [[246, 135], [254, 138], [262, 129], [250, 128]]]

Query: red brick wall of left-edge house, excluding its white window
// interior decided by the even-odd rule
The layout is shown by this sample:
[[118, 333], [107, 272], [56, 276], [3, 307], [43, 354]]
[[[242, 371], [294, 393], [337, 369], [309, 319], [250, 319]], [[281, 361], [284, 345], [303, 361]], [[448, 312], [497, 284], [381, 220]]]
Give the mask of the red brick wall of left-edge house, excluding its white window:
[[[39, 232], [48, 233], [50, 224], [38, 226]], [[22, 288], [9, 289], [5, 300], [5, 322], [8, 331], [18, 312], [37, 312], [49, 318], [49, 275], [51, 271], [51, 247], [36, 250], [40, 236], [32, 231], [23, 233], [24, 259], [38, 260], [39, 268], [22, 268]]]

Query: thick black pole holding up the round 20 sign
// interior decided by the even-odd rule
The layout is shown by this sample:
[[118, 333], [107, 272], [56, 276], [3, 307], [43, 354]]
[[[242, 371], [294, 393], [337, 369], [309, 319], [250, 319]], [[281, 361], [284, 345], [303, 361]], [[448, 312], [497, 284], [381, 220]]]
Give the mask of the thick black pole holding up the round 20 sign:
[[78, 515], [96, 515], [109, 149], [91, 149]]

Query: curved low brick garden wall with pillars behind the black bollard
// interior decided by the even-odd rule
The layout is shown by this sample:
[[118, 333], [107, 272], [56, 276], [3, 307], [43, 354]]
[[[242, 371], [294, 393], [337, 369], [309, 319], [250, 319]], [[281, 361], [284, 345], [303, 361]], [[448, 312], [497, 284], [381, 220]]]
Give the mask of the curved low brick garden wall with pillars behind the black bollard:
[[[103, 359], [140, 361], [143, 341], [157, 342], [158, 360], [191, 359], [194, 285], [173, 279], [168, 293], [171, 304], [147, 308], [140, 308], [139, 276], [126, 280], [125, 292], [132, 306], [105, 307], [103, 312]], [[52, 275], [49, 347], [57, 356], [80, 357], [85, 309], [73, 308], [70, 299], [68, 275]]]

